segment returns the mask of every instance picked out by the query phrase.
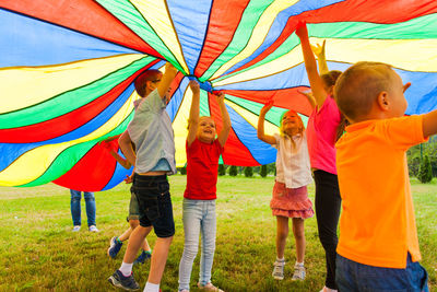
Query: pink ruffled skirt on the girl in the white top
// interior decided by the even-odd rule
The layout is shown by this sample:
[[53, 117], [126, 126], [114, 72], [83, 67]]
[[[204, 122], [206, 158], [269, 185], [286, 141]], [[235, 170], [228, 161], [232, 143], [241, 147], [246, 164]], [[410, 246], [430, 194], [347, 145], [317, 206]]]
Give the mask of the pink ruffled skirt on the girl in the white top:
[[307, 219], [314, 215], [312, 202], [307, 187], [286, 188], [283, 183], [274, 183], [273, 198], [270, 201], [273, 215]]

